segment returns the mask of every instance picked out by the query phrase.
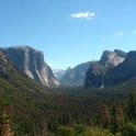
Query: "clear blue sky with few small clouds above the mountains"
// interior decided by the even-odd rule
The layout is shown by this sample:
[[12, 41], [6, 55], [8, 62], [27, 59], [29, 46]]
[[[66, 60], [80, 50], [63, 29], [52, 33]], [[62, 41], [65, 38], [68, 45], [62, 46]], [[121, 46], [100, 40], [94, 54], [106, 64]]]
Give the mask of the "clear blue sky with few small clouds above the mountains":
[[0, 46], [30, 45], [52, 68], [136, 49], [136, 0], [0, 0]]

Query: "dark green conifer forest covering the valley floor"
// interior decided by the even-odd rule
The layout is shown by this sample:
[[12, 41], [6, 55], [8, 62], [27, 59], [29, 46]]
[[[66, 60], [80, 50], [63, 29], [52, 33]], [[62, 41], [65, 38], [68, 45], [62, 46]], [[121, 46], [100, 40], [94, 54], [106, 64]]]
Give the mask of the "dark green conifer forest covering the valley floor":
[[47, 95], [19, 92], [1, 99], [1, 113], [5, 112], [14, 136], [135, 136], [132, 82], [103, 90], [54, 91]]

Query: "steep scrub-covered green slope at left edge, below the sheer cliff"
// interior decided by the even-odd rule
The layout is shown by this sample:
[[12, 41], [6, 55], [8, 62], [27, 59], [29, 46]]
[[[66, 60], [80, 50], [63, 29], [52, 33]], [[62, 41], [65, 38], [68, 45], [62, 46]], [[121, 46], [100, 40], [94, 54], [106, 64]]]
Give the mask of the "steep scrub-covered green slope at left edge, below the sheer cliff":
[[[29, 93], [27, 93], [29, 92]], [[21, 95], [20, 95], [20, 94]], [[3, 49], [0, 49], [0, 97], [11, 98], [18, 95], [45, 95], [53, 94], [50, 89], [36, 83], [33, 79], [29, 78], [24, 72], [19, 70]], [[23, 100], [24, 100], [23, 98]]]

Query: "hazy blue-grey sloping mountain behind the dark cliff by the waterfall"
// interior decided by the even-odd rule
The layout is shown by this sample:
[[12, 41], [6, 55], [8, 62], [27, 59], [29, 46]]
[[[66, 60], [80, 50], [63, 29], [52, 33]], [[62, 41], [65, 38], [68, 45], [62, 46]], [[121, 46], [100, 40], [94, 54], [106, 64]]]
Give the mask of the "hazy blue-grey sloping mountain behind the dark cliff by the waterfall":
[[68, 68], [60, 79], [61, 86], [81, 87], [84, 83], [86, 72], [91, 61], [80, 64], [75, 68]]

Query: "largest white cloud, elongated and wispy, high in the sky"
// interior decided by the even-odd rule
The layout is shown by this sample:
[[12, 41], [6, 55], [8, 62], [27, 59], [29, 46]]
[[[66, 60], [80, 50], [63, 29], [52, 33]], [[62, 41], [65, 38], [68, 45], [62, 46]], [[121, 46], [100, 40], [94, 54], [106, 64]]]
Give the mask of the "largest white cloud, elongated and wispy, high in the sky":
[[92, 13], [92, 12], [79, 12], [79, 13], [71, 14], [71, 18], [78, 18], [78, 19], [82, 18], [82, 19], [91, 20], [94, 15], [95, 13]]

